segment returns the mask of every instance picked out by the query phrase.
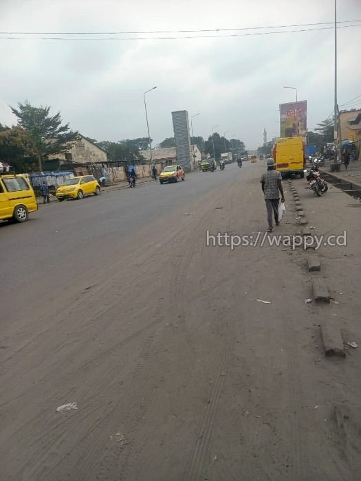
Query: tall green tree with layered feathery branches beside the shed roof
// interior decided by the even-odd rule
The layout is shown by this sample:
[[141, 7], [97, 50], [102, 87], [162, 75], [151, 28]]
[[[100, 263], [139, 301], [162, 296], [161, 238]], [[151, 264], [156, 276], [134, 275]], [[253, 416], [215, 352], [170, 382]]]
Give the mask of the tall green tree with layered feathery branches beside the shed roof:
[[78, 132], [71, 131], [69, 124], [62, 125], [60, 112], [50, 115], [50, 107], [34, 107], [26, 100], [11, 107], [18, 124], [28, 132], [34, 143], [34, 152], [42, 171], [42, 160], [48, 155], [67, 153], [72, 148]]

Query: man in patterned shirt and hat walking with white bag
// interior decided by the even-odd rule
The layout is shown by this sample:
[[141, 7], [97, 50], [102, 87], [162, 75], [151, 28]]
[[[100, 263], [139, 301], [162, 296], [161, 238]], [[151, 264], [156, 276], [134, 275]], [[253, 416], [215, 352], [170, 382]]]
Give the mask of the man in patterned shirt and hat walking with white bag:
[[[273, 230], [273, 216], [276, 225], [278, 221], [278, 203], [280, 200], [279, 192], [281, 192], [281, 202], [285, 201], [283, 194], [281, 172], [276, 170], [274, 159], [267, 159], [267, 170], [262, 174], [261, 186], [265, 195], [265, 206], [267, 209], [268, 232]], [[279, 191], [279, 192], [278, 192]], [[273, 214], [273, 215], [272, 215]]]

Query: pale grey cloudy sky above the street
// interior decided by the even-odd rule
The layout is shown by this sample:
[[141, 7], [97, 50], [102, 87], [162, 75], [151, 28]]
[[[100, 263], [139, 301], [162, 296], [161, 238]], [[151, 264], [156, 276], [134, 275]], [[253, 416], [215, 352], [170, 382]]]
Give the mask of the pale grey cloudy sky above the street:
[[[361, 100], [361, 0], [338, 3], [339, 21], [360, 20], [360, 26], [338, 30], [342, 104]], [[177, 39], [151, 37], [199, 33], [111, 32], [270, 26], [280, 32], [329, 27], [279, 26], [333, 19], [333, 0], [0, 0], [0, 30], [10, 32], [0, 34], [0, 122], [15, 124], [8, 106], [28, 99], [51, 105], [74, 130], [98, 140], [146, 137], [143, 92], [157, 86], [146, 96], [155, 144], [173, 135], [171, 111], [186, 109], [201, 114], [193, 120], [195, 135], [208, 137], [219, 124], [221, 135], [228, 131], [226, 137], [256, 148], [263, 128], [269, 139], [278, 132], [278, 104], [295, 100], [283, 86], [297, 87], [298, 100], [307, 100], [309, 128], [331, 113], [333, 30], [220, 30], [202, 34], [211, 38]], [[17, 36], [11, 32], [50, 34], [5, 38]], [[263, 35], [245, 36], [254, 33]], [[229, 34], [237, 36], [214, 37]]]

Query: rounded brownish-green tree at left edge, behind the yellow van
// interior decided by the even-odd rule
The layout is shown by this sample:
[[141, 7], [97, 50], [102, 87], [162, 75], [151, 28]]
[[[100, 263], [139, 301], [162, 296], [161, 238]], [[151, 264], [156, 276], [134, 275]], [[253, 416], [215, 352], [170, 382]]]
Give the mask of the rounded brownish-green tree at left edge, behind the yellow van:
[[17, 173], [36, 168], [34, 147], [32, 138], [20, 126], [0, 132], [0, 161], [8, 162]]

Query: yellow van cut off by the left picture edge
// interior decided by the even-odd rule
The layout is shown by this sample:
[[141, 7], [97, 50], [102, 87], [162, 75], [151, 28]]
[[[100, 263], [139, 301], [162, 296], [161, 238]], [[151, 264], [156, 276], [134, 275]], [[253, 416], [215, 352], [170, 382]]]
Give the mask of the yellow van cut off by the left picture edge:
[[36, 212], [38, 203], [25, 175], [0, 175], [0, 221], [28, 221], [29, 212]]

